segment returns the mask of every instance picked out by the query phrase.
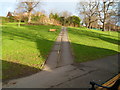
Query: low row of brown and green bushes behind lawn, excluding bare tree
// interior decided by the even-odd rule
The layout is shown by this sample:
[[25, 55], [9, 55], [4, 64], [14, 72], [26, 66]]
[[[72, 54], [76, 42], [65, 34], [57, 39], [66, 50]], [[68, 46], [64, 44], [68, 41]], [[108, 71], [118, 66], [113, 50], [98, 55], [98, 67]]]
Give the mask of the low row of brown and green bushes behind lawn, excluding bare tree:
[[[6, 21], [9, 22], [26, 22], [28, 23], [28, 13], [15, 14], [8, 12]], [[81, 19], [78, 16], [70, 15], [67, 11], [60, 13], [50, 13], [49, 16], [42, 12], [36, 12], [31, 14], [31, 21], [28, 24], [52, 24], [62, 26], [79, 27]]]

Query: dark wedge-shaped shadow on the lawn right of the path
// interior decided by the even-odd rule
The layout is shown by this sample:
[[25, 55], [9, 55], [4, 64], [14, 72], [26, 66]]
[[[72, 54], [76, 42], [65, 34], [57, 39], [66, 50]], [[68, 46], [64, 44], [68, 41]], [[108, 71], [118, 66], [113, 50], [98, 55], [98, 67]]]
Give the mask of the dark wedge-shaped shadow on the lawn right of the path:
[[110, 55], [118, 54], [119, 52], [105, 49], [92, 47], [82, 44], [71, 43], [73, 55], [76, 62], [86, 62], [90, 60], [96, 60]]

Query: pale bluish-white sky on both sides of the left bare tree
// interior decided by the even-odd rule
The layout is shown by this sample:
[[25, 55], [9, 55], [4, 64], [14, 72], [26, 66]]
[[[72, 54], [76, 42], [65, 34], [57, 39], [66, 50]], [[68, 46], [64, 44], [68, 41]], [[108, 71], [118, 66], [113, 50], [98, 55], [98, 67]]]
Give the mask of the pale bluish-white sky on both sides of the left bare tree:
[[[9, 0], [6, 2], [6, 0], [4, 0], [4, 2], [2, 2], [3, 0], [0, 1], [0, 16], [6, 16], [7, 13], [9, 11], [14, 12], [16, 5], [17, 5], [17, 1], [18, 0]], [[10, 2], [11, 1], [11, 2]], [[55, 11], [55, 12], [62, 12], [62, 11], [68, 11], [70, 13], [72, 13], [73, 15], [78, 15], [77, 13], [77, 1], [76, 2], [72, 2], [73, 0], [70, 0], [68, 2], [68, 0], [61, 0], [61, 1], [57, 1], [57, 0], [45, 0], [42, 1], [42, 5], [40, 6], [40, 11], [45, 11], [47, 14], [49, 14], [51, 11]]]

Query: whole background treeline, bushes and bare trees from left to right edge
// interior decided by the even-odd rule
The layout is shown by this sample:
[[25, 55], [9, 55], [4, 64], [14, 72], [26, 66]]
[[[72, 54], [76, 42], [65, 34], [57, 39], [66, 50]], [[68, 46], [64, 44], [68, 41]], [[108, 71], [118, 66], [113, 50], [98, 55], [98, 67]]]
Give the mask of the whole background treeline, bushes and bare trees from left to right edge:
[[79, 27], [81, 24], [87, 28], [101, 29], [102, 31], [120, 31], [120, 2], [114, 0], [79, 2], [78, 12], [82, 20], [67, 11], [62, 13], [51, 12], [46, 15], [43, 12], [36, 11], [40, 5], [41, 3], [35, 2], [35, 0], [20, 2], [15, 12], [8, 13], [8, 21], [17, 21], [19, 25], [21, 22], [73, 27]]

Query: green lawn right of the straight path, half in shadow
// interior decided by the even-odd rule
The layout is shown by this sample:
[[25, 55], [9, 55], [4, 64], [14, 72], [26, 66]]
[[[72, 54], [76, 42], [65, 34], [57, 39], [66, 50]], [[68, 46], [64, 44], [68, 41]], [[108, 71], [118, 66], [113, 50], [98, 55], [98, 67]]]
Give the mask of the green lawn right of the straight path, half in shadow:
[[69, 27], [68, 34], [76, 62], [95, 60], [120, 52], [119, 32]]

